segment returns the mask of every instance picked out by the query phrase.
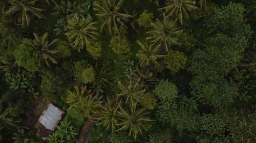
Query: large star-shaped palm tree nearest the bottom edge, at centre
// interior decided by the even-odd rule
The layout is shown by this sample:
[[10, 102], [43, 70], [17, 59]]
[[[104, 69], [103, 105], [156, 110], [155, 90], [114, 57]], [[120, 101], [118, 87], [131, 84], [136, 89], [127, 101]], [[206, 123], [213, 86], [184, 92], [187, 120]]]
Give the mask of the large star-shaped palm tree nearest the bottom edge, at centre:
[[135, 102], [134, 104], [130, 103], [129, 111], [124, 110], [121, 104], [119, 104], [118, 107], [120, 109], [117, 111], [120, 123], [118, 123], [117, 125], [120, 126], [120, 128], [116, 131], [129, 130], [129, 135], [133, 134], [133, 137], [135, 139], [137, 138], [137, 134], [142, 134], [143, 129], [147, 130], [147, 128], [144, 126], [144, 123], [153, 121], [146, 117], [146, 115], [150, 113], [145, 111], [146, 108], [136, 109], [137, 102]]

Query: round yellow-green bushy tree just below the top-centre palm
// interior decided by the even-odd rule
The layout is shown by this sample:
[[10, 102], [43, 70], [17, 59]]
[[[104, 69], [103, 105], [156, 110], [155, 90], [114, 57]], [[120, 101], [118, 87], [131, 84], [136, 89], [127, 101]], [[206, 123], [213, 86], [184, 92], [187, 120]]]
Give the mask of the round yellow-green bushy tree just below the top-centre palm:
[[125, 35], [115, 35], [111, 38], [109, 47], [116, 54], [129, 54], [131, 52], [131, 42]]

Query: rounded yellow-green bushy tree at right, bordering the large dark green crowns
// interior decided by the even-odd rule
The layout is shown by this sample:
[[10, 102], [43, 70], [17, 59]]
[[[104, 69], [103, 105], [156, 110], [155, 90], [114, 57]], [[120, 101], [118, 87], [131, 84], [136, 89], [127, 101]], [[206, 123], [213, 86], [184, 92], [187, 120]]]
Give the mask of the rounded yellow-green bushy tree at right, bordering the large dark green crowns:
[[185, 69], [187, 57], [183, 52], [177, 50], [170, 50], [169, 54], [164, 57], [166, 68], [175, 75], [180, 70]]

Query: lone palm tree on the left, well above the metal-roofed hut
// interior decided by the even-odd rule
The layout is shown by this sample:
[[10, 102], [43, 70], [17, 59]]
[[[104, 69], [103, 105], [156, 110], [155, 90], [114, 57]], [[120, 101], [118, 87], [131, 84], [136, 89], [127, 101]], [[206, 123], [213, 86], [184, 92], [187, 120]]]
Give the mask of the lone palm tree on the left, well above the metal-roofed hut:
[[38, 65], [41, 66], [42, 62], [45, 62], [45, 64], [50, 67], [50, 64], [48, 61], [52, 62], [53, 64], [57, 64], [57, 54], [58, 50], [53, 49], [56, 46], [56, 43], [58, 39], [54, 39], [51, 42], [47, 40], [48, 38], [48, 33], [45, 33], [42, 35], [42, 37], [39, 37], [37, 34], [34, 33], [35, 39], [33, 40], [30, 45], [34, 46], [37, 49], [37, 57], [39, 58], [38, 60]]

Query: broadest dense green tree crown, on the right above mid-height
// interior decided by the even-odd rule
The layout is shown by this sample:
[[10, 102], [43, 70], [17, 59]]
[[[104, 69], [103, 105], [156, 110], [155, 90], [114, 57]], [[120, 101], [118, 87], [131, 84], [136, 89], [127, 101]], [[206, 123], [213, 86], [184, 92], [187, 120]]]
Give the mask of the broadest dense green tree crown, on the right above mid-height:
[[223, 34], [210, 37], [204, 49], [193, 53], [189, 70], [203, 79], [213, 80], [226, 76], [239, 64], [245, 42], [244, 39], [228, 38]]

